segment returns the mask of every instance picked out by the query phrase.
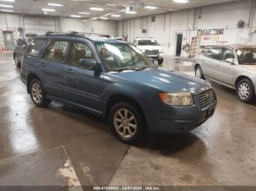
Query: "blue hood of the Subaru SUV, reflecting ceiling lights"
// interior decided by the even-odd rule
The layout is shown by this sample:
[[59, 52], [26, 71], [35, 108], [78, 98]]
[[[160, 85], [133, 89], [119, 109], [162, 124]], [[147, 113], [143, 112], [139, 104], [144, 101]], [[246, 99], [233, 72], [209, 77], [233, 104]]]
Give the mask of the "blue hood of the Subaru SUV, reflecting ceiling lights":
[[203, 79], [162, 69], [123, 71], [114, 73], [114, 75], [129, 81], [155, 87], [165, 93], [190, 92], [192, 94], [199, 94], [211, 88], [211, 85]]

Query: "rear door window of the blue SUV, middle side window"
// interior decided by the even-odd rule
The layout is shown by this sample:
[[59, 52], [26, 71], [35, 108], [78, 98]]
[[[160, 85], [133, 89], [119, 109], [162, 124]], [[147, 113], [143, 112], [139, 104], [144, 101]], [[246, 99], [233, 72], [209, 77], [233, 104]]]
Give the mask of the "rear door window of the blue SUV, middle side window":
[[47, 49], [45, 50], [44, 58], [48, 61], [64, 63], [68, 44], [69, 42], [67, 41], [61, 41], [61, 40], [51, 41]]

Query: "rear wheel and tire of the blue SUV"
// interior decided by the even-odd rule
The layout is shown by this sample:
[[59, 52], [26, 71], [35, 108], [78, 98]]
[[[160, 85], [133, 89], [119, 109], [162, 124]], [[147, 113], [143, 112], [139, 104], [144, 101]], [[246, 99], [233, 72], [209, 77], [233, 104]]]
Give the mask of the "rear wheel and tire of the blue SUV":
[[42, 82], [37, 78], [31, 80], [29, 85], [29, 93], [31, 100], [36, 106], [47, 107], [51, 102], [51, 100], [46, 98], [46, 93], [42, 87]]

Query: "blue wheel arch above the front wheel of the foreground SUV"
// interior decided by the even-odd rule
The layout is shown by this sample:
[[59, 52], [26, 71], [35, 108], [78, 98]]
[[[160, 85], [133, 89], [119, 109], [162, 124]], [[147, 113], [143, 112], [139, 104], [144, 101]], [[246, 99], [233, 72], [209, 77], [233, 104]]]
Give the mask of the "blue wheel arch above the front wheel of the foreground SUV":
[[113, 95], [110, 95], [110, 98], [108, 98], [108, 102], [107, 102], [107, 105], [105, 107], [105, 119], [106, 119], [107, 122], [109, 120], [109, 114], [110, 114], [110, 110], [112, 109], [112, 107], [115, 104], [117, 104], [119, 102], [122, 102], [122, 101], [126, 102], [128, 104], [132, 104], [133, 106], [135, 106], [139, 110], [138, 112], [140, 112], [140, 114], [143, 115], [143, 121], [146, 124], [146, 116], [145, 116], [145, 114], [143, 112], [142, 107], [138, 103], [138, 101], [136, 101], [134, 98], [131, 98], [128, 95], [122, 95], [120, 93], [115, 93]]

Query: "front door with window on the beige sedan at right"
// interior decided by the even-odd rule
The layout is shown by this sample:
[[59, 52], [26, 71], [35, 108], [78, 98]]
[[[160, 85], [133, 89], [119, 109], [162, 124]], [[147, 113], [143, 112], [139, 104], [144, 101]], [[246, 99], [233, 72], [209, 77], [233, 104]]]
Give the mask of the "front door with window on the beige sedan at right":
[[236, 72], [235, 55], [233, 50], [223, 48], [216, 65], [216, 77], [218, 82], [233, 86], [234, 74]]

